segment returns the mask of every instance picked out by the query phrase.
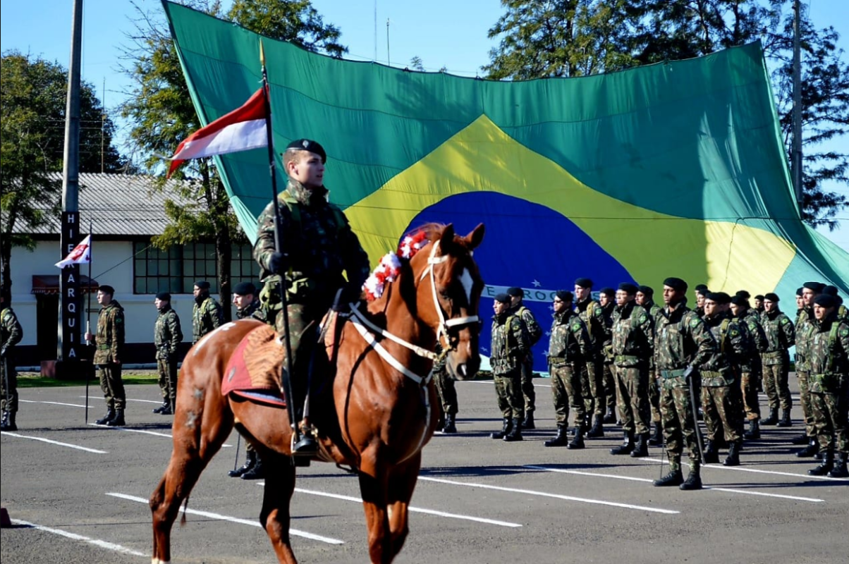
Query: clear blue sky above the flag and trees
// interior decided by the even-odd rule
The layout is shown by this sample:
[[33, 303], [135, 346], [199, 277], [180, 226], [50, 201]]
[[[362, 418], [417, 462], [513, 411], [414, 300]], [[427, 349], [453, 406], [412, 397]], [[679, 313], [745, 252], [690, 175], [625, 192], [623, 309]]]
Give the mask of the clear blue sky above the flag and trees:
[[[223, 0], [225, 5], [228, 0]], [[807, 0], [814, 24], [834, 25], [841, 32], [839, 45], [849, 51], [849, 2]], [[161, 11], [160, 0], [138, 0], [146, 10]], [[72, 0], [7, 0], [0, 4], [0, 48], [17, 49], [68, 65]], [[408, 65], [418, 56], [425, 69], [475, 76], [489, 61], [495, 42], [486, 37], [503, 13], [499, 0], [312, 0], [325, 23], [337, 25], [350, 59], [387, 58], [392, 65]], [[376, 18], [375, 18], [376, 10]], [[121, 75], [121, 46], [132, 43], [136, 14], [129, 0], [84, 0], [82, 76], [98, 90], [107, 108], [125, 99], [128, 81]], [[375, 30], [376, 20], [376, 30]], [[387, 25], [388, 46], [387, 46]], [[387, 48], [388, 47], [388, 48]], [[844, 57], [849, 56], [844, 54]], [[105, 81], [105, 90], [104, 88]], [[121, 124], [119, 123], [119, 127]], [[119, 138], [121, 134], [119, 133]], [[830, 145], [849, 152], [849, 135]], [[849, 189], [840, 188], [849, 196]], [[841, 228], [826, 233], [849, 251], [849, 210], [840, 213]]]

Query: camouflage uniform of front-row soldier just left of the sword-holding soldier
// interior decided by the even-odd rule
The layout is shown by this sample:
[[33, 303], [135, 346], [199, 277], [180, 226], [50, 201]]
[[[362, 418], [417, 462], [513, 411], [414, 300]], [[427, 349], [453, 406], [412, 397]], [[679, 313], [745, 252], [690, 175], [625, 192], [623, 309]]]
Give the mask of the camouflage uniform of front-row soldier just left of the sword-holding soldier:
[[644, 307], [632, 301], [616, 306], [612, 332], [622, 431], [632, 437], [635, 432], [648, 435], [649, 358], [654, 353], [655, 324]]

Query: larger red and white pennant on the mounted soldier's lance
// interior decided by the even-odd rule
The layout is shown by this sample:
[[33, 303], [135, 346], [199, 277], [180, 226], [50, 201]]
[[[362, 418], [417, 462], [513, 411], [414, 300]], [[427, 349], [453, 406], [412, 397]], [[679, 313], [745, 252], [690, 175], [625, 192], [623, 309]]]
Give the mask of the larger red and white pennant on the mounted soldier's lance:
[[177, 147], [177, 153], [171, 157], [168, 176], [188, 159], [226, 155], [267, 146], [266, 101], [263, 88], [260, 88], [240, 108], [219, 117], [185, 138]]

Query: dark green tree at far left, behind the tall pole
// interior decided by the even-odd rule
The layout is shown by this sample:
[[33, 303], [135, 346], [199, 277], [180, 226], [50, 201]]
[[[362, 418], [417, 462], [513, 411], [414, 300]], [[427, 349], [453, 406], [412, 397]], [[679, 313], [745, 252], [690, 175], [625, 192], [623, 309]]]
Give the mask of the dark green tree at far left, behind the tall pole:
[[[61, 183], [48, 173], [63, 167], [68, 71], [8, 51], [2, 57], [0, 89], [0, 263], [3, 285], [9, 287], [12, 248], [35, 248], [30, 233], [59, 215]], [[80, 94], [80, 171], [121, 171], [127, 162], [112, 144], [115, 125], [91, 84], [82, 82]]]

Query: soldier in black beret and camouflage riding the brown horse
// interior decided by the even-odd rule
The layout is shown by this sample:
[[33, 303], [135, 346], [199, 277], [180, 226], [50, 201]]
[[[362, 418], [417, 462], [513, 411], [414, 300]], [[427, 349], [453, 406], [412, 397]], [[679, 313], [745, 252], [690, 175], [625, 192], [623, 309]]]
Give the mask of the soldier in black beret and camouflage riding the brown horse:
[[[311, 455], [318, 450], [318, 443], [314, 429], [303, 416], [302, 400], [308, 396], [309, 365], [318, 321], [329, 307], [344, 307], [359, 300], [363, 281], [369, 274], [368, 255], [351, 231], [345, 214], [328, 201], [328, 190], [323, 185], [327, 161], [323, 147], [309, 139], [297, 139], [286, 147], [283, 161], [289, 184], [276, 202], [280, 217], [276, 230], [279, 251], [274, 241], [275, 202], [271, 202], [258, 219], [253, 254], [260, 264], [265, 285], [260, 301], [267, 311], [268, 324], [280, 336], [287, 327], [279, 289], [286, 292], [292, 384], [295, 397], [301, 402], [296, 404], [295, 398], [288, 400], [290, 409], [297, 410], [303, 431], [292, 454]], [[343, 291], [335, 300], [340, 288]]]

